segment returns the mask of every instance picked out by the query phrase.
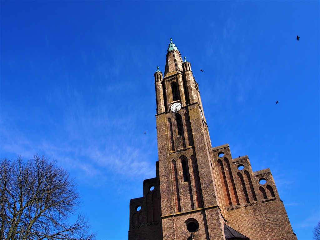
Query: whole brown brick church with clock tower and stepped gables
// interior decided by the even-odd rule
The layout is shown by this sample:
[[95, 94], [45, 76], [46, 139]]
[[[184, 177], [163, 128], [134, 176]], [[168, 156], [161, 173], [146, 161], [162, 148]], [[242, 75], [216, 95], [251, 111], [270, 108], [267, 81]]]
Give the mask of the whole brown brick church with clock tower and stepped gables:
[[212, 148], [191, 64], [172, 41], [167, 52], [154, 74], [156, 177], [130, 201], [129, 240], [296, 240], [270, 169]]

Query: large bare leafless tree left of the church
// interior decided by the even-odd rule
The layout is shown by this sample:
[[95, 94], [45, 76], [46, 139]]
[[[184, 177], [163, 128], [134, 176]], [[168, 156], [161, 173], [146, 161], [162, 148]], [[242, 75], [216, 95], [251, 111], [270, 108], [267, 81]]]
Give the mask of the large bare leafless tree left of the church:
[[74, 179], [55, 161], [0, 160], [0, 239], [94, 239], [79, 204]]

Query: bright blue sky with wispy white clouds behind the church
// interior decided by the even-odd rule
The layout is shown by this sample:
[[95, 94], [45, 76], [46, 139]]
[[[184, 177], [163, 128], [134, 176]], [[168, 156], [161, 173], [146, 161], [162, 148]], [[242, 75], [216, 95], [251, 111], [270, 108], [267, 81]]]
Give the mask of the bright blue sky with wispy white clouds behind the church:
[[312, 239], [319, 1], [1, 1], [0, 9], [0, 155], [56, 159], [76, 178], [97, 239], [127, 239], [129, 201], [156, 176], [153, 74], [164, 72], [170, 38], [191, 63], [212, 147], [228, 143], [253, 171], [270, 168], [293, 231]]

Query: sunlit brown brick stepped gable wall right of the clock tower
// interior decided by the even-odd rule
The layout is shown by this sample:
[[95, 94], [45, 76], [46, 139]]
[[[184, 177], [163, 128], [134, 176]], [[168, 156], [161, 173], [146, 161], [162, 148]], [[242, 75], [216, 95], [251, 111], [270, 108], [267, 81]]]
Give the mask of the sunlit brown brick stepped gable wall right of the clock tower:
[[[216, 168], [219, 167], [219, 159], [228, 158], [232, 160], [229, 161], [230, 169], [233, 173], [232, 175], [240, 203], [238, 206], [234, 207], [226, 207], [226, 204], [222, 204], [223, 207], [227, 209], [225, 218], [228, 226], [241, 232], [250, 239], [297, 239], [293, 234], [284, 204], [280, 200], [270, 170], [265, 169], [258, 172], [252, 172], [248, 156], [232, 159], [228, 145], [221, 146], [220, 148], [213, 148], [212, 152]], [[220, 152], [224, 153], [224, 156], [221, 158], [218, 156], [218, 153]], [[244, 169], [238, 170], [239, 165], [243, 165]], [[245, 172], [249, 173], [248, 175], [252, 181], [253, 188], [252, 191], [250, 184], [247, 184], [247, 180], [244, 178], [244, 185], [249, 198], [249, 203], [244, 201], [246, 198], [244, 196], [243, 184], [239, 175], [237, 175], [237, 173], [241, 173], [242, 176], [245, 176]], [[259, 183], [261, 178], [267, 180], [264, 185]], [[219, 185], [220, 188], [223, 188], [221, 182]], [[272, 189], [273, 194], [271, 194], [267, 186], [269, 189]], [[265, 190], [268, 199], [263, 197], [259, 188]], [[254, 195], [256, 200], [254, 199]]]

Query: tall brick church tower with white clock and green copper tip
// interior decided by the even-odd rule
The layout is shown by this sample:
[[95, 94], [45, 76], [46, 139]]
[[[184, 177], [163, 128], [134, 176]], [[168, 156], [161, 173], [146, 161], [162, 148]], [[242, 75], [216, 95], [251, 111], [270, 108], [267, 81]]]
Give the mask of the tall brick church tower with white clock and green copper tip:
[[200, 93], [191, 64], [172, 42], [164, 77], [157, 71], [155, 84], [163, 239], [175, 232], [176, 239], [187, 239], [188, 228], [196, 229], [199, 239], [224, 239]]

